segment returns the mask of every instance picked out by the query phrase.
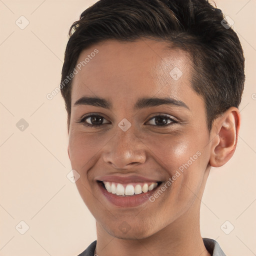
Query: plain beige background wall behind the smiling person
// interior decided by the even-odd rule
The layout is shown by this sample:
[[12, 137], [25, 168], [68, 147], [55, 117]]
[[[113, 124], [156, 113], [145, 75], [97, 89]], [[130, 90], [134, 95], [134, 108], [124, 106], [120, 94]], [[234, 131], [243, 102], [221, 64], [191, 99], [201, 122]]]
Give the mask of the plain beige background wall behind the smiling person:
[[[67, 155], [64, 101], [46, 98], [60, 81], [67, 32], [96, 0], [0, 0], [0, 256], [77, 255], [96, 239]], [[256, 0], [216, 0], [234, 20], [246, 59], [242, 125], [234, 157], [212, 168], [201, 233], [227, 255], [256, 254]], [[21, 29], [20, 16], [29, 24]], [[25, 24], [22, 19], [22, 24]], [[21, 131], [16, 123], [29, 124]], [[23, 220], [29, 226], [24, 231]], [[224, 224], [225, 234], [221, 225]], [[17, 229], [15, 228], [17, 226]], [[199, 255], [198, 255], [199, 256]]]

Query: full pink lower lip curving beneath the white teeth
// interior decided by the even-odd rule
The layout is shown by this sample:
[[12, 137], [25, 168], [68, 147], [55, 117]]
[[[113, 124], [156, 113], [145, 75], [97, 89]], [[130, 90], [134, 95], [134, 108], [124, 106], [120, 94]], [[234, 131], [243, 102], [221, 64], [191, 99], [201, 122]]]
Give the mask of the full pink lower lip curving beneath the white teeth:
[[140, 193], [135, 195], [128, 195], [128, 196], [119, 196], [116, 194], [112, 194], [107, 192], [107, 190], [102, 186], [102, 184], [97, 183], [99, 186], [100, 191], [103, 193], [103, 195], [106, 197], [106, 199], [113, 203], [116, 206], [120, 207], [135, 207], [140, 204], [143, 204], [146, 201], [149, 201], [149, 197], [155, 192], [155, 189], [158, 188], [155, 187], [151, 191], [148, 191], [146, 193]]

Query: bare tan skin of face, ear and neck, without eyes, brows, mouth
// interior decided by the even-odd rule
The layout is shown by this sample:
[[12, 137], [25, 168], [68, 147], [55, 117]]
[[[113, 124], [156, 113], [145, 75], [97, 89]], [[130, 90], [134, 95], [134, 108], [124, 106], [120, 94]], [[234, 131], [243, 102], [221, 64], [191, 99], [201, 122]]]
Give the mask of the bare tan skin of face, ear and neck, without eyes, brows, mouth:
[[[240, 115], [229, 108], [209, 132], [204, 101], [191, 87], [189, 54], [167, 45], [142, 38], [107, 40], [83, 50], [77, 61], [99, 50], [72, 81], [67, 148], [72, 169], [80, 174], [78, 191], [96, 219], [99, 256], [210, 255], [200, 235], [200, 199], [210, 166], [223, 165], [234, 152]], [[174, 67], [183, 73], [177, 80], [169, 75]], [[112, 108], [74, 106], [81, 96], [105, 98]], [[188, 108], [163, 104], [133, 109], [140, 97], [167, 96]], [[77, 122], [90, 113], [104, 117], [103, 124]], [[177, 122], [167, 119], [170, 124], [161, 126], [163, 120], [157, 124], [151, 119], [162, 114]], [[118, 127], [123, 118], [131, 123], [125, 132]], [[95, 178], [100, 175], [134, 174], [166, 182], [197, 151], [200, 156], [154, 202], [119, 207], [98, 189]], [[123, 221], [130, 228], [126, 233], [119, 228]]]

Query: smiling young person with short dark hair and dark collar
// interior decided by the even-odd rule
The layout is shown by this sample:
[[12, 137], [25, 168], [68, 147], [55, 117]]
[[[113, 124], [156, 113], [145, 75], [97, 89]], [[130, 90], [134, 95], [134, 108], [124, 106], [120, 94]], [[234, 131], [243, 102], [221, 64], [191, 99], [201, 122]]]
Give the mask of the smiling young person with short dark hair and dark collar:
[[68, 155], [97, 240], [81, 255], [225, 255], [202, 238], [210, 167], [233, 155], [236, 33], [206, 0], [100, 0], [70, 28]]

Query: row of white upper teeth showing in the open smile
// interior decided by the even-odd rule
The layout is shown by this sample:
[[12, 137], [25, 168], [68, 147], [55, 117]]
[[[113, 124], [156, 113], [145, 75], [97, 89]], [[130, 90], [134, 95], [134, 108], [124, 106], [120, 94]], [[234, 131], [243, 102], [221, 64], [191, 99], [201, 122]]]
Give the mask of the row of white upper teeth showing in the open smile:
[[151, 183], [149, 186], [147, 183], [144, 183], [142, 188], [140, 184], [136, 184], [135, 187], [132, 184], [127, 184], [124, 188], [124, 185], [121, 183], [103, 181], [107, 192], [116, 194], [116, 195], [134, 195], [134, 194], [141, 194], [146, 193], [147, 191], [151, 191], [157, 186], [157, 183]]

